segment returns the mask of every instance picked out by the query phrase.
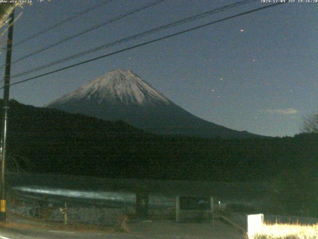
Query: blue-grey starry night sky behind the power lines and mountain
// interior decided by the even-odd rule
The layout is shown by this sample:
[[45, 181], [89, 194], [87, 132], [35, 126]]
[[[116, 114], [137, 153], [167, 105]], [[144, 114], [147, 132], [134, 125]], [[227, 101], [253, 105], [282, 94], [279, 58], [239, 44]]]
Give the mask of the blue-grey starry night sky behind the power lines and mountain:
[[[31, 6], [16, 9], [16, 16], [22, 15], [14, 25], [13, 44], [103, 1], [33, 0]], [[113, 0], [15, 47], [13, 61], [153, 1]], [[237, 1], [165, 0], [13, 64], [11, 74]], [[270, 4], [260, 1], [12, 78], [11, 82]], [[0, 58], [3, 64], [4, 52]], [[124, 68], [202, 119], [262, 135], [294, 135], [300, 132], [304, 116], [318, 111], [317, 63], [318, 3], [285, 3], [12, 86], [10, 98], [41, 107], [112, 69]], [[3, 69], [0, 74], [4, 75]]]

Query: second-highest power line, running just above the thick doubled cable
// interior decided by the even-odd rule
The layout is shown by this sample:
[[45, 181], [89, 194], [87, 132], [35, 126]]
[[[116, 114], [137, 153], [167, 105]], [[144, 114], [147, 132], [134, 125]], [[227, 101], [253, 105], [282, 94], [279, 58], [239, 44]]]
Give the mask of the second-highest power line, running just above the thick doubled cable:
[[[140, 8], [137, 8], [137, 9], [135, 9], [135, 10], [133, 10], [133, 11], [130, 11], [130, 12], [127, 12], [127, 13], [125, 13], [125, 14], [119, 15], [119, 16], [117, 16], [117, 17], [111, 18], [111, 19], [109, 19], [109, 20], [107, 20], [107, 21], [105, 21], [105, 22], [103, 22], [103, 23], [100, 23], [100, 24], [98, 24], [98, 25], [95, 25], [95, 26], [93, 26], [93, 27], [91, 27], [91, 28], [88, 28], [88, 29], [86, 29], [86, 30], [84, 30], [84, 31], [78, 32], [78, 33], [76, 33], [76, 34], [74, 34], [74, 35], [72, 35], [72, 36], [66, 37], [66, 38], [64, 38], [64, 39], [62, 39], [62, 40], [60, 40], [60, 41], [58, 41], [58, 42], [56, 42], [56, 43], [50, 44], [50, 45], [45, 46], [45, 47], [43, 47], [43, 48], [41, 48], [41, 49], [39, 49], [39, 50], [36, 50], [36, 51], [31, 52], [31, 53], [29, 53], [29, 54], [27, 54], [27, 55], [24, 55], [24, 56], [18, 58], [17, 60], [13, 61], [11, 64], [17, 63], [17, 62], [22, 61], [22, 60], [24, 60], [24, 59], [26, 59], [26, 58], [29, 58], [30, 56], [34, 56], [34, 55], [36, 55], [36, 54], [38, 54], [38, 53], [40, 53], [40, 52], [42, 52], [42, 51], [45, 51], [45, 50], [50, 49], [50, 48], [52, 48], [52, 47], [58, 46], [58, 45], [60, 45], [60, 44], [63, 43], [63, 42], [69, 41], [69, 40], [71, 40], [71, 39], [73, 39], [73, 38], [76, 38], [76, 37], [78, 37], [78, 36], [80, 36], [80, 35], [83, 35], [83, 34], [85, 34], [85, 33], [87, 33], [87, 32], [90, 32], [90, 31], [92, 31], [92, 30], [95, 30], [95, 29], [97, 29], [97, 28], [99, 28], [99, 27], [101, 27], [101, 26], [104, 26], [104, 25], [106, 25], [106, 24], [109, 24], [109, 23], [111, 23], [111, 22], [114, 22], [114, 21], [117, 21], [117, 20], [119, 20], [119, 19], [122, 19], [122, 18], [124, 18], [124, 17], [126, 17], [126, 16], [129, 16], [129, 15], [133, 14], [133, 13], [136, 13], [136, 12], [141, 11], [141, 10], [144, 10], [144, 9], [146, 9], [146, 8], [148, 8], [148, 7], [154, 6], [154, 5], [156, 5], [156, 4], [158, 4], [158, 3], [162, 2], [162, 1], [165, 1], [165, 0], [157, 0], [157, 1], [153, 2], [153, 3], [150, 3], [150, 4], [147, 4], [147, 5], [144, 5], [144, 6], [140, 7]], [[0, 69], [3, 68], [4, 66], [5, 66], [5, 65], [2, 65], [2, 66], [0, 67]]]

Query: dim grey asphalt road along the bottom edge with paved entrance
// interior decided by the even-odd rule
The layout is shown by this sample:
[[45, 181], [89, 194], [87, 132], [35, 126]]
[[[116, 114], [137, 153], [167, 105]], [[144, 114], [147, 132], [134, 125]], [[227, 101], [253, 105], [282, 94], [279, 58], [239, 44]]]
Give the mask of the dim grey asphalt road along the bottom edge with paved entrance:
[[0, 228], [0, 239], [244, 239], [240, 232], [220, 221], [214, 225], [157, 221], [129, 226], [130, 233]]

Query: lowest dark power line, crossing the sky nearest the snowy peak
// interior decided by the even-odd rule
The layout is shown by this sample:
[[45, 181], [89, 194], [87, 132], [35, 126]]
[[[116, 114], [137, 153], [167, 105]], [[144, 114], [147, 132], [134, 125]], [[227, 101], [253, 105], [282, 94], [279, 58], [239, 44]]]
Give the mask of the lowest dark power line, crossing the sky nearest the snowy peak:
[[[196, 29], [200, 29], [202, 27], [206, 27], [206, 26], [209, 26], [209, 25], [212, 25], [212, 24], [216, 24], [216, 23], [219, 23], [219, 22], [222, 22], [222, 21], [226, 21], [226, 20], [238, 17], [238, 16], [246, 15], [246, 14], [249, 14], [249, 13], [252, 13], [252, 12], [256, 12], [256, 11], [259, 11], [259, 10], [263, 10], [263, 9], [272, 7], [272, 6], [277, 6], [277, 5], [280, 5], [282, 3], [284, 3], [284, 2], [274, 3], [274, 4], [267, 5], [267, 6], [255, 8], [253, 10], [244, 11], [242, 13], [239, 13], [239, 14], [236, 14], [236, 15], [232, 15], [232, 16], [229, 16], [229, 17], [225, 17], [225, 18], [222, 18], [220, 20], [216, 20], [216, 21], [212, 21], [212, 22], [209, 22], [209, 23], [206, 23], [206, 24], [203, 24], [203, 25], [192, 27], [192, 28], [189, 28], [187, 30], [179, 31], [179, 32], [167, 35], [167, 36], [163, 36], [163, 37], [157, 38], [155, 40], [146, 41], [146, 42], [143, 42], [143, 43], [131, 46], [131, 47], [124, 48], [122, 50], [114, 51], [112, 53], [109, 53], [109, 54], [106, 54], [106, 55], [103, 55], [103, 56], [95, 57], [95, 58], [92, 58], [92, 59], [89, 59], [89, 60], [86, 60], [86, 61], [79, 62], [77, 64], [73, 64], [73, 65], [70, 65], [70, 66], [67, 66], [67, 67], [63, 67], [63, 68], [60, 68], [60, 69], [57, 69], [57, 70], [54, 70], [54, 71], [50, 71], [50, 72], [47, 72], [47, 73], [44, 73], [44, 74], [41, 74], [41, 75], [38, 75], [38, 76], [34, 76], [34, 77], [31, 77], [31, 78], [28, 78], [28, 79], [25, 79], [25, 80], [22, 80], [22, 81], [18, 81], [18, 82], [10, 84], [10, 86], [21, 84], [21, 83], [24, 83], [24, 82], [27, 82], [27, 81], [30, 81], [30, 80], [33, 80], [33, 79], [36, 79], [36, 78], [39, 78], [39, 77], [42, 77], [42, 76], [47, 76], [47, 75], [50, 75], [50, 74], [53, 74], [53, 73], [56, 73], [56, 72], [59, 72], [59, 71], [63, 71], [63, 70], [69, 69], [69, 68], [73, 68], [75, 66], [79, 66], [79, 65], [91, 62], [91, 61], [95, 61], [95, 60], [98, 60], [98, 59], [101, 59], [101, 58], [105, 58], [107, 56], [112, 56], [112, 55], [115, 55], [115, 54], [118, 54], [118, 53], [121, 53], [121, 52], [124, 52], [124, 51], [128, 51], [128, 50], [140, 47], [140, 46], [148, 45], [148, 44], [153, 43], [153, 42], [157, 42], [157, 41], [160, 41], [160, 40], [163, 40], [163, 39], [167, 39], [167, 38], [170, 38], [170, 37], [173, 37], [173, 36], [176, 36], [176, 35], [180, 35], [180, 34], [183, 34], [183, 33], [186, 33], [186, 32], [190, 32], [190, 31], [193, 31], [193, 30], [196, 30]], [[3, 87], [1, 87], [0, 89], [3, 89]]]

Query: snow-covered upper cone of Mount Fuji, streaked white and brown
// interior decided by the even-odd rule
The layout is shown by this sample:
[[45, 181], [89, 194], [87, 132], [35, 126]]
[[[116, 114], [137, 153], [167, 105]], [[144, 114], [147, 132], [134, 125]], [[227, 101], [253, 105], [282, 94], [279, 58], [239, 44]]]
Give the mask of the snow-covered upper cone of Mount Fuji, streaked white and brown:
[[95, 104], [170, 104], [170, 101], [130, 70], [116, 69], [52, 102], [91, 101]]

